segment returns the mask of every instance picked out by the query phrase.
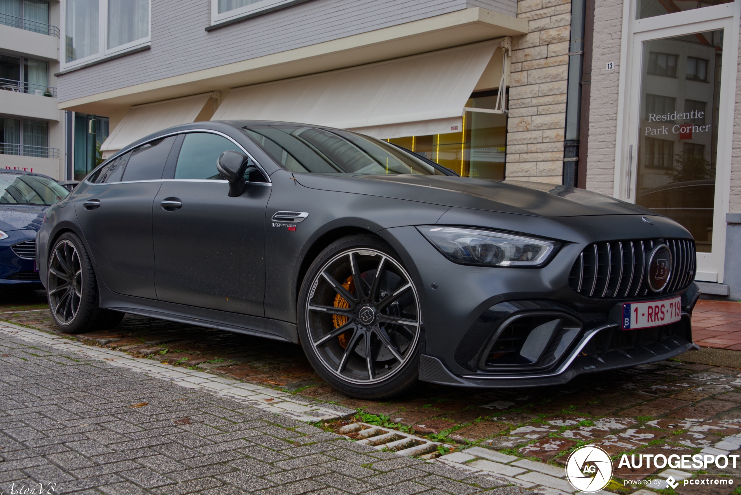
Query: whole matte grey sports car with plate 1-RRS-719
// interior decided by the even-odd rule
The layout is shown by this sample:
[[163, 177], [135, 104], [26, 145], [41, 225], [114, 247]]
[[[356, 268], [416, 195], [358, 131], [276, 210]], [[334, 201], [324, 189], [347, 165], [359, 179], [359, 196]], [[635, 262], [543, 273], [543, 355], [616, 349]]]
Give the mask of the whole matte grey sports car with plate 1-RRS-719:
[[651, 210], [285, 122], [147, 136], [50, 207], [37, 243], [64, 330], [134, 313], [300, 342], [367, 398], [671, 358], [699, 296], [692, 236]]

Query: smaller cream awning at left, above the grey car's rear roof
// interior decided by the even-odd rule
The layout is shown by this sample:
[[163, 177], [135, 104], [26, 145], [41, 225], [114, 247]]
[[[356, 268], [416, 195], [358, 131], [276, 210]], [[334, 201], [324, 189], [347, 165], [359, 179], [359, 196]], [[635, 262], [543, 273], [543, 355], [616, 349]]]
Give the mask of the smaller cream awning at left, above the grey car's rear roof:
[[[113, 132], [101, 145], [101, 151], [120, 150], [148, 134], [177, 124], [194, 122], [207, 104], [213, 104], [213, 93], [165, 100], [130, 107]], [[207, 119], [207, 116], [206, 116]]]

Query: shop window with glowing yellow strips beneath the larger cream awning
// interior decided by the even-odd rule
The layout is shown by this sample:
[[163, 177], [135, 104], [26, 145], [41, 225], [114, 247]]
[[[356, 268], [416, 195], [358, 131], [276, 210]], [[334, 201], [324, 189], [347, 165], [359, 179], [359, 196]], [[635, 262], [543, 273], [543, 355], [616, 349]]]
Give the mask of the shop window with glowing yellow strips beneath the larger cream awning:
[[[494, 109], [496, 90], [473, 93], [468, 108]], [[467, 111], [462, 130], [431, 136], [388, 139], [433, 162], [448, 167], [464, 177], [476, 179], [505, 178], [507, 152], [507, 116], [501, 113]]]

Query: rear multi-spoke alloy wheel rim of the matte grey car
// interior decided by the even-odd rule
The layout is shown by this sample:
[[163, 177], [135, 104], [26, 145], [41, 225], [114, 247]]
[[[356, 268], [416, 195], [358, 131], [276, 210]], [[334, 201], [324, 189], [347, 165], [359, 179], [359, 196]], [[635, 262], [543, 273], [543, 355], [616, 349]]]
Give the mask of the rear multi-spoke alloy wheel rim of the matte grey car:
[[62, 240], [49, 262], [49, 302], [57, 322], [69, 325], [82, 301], [82, 263], [72, 242]]

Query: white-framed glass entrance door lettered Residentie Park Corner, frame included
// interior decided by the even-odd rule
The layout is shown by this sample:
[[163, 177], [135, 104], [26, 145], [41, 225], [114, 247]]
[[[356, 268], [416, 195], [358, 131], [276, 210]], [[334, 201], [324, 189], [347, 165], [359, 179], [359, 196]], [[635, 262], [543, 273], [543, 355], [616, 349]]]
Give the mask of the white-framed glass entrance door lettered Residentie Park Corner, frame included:
[[723, 282], [741, 0], [691, 3], [631, 2], [615, 193], [682, 224], [695, 279]]

